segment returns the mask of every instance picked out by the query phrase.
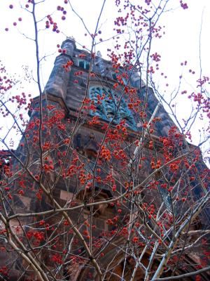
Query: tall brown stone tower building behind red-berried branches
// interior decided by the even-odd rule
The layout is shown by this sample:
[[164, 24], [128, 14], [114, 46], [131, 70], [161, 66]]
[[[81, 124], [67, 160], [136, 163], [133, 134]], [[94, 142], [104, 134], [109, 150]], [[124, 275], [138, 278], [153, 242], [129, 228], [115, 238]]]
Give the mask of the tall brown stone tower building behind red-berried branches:
[[[156, 206], [165, 210], [166, 221], [172, 220], [172, 212], [179, 216], [180, 209], [180, 214], [187, 210], [181, 200], [172, 209], [173, 198], [165, 181], [172, 184], [173, 173], [179, 178], [195, 158], [197, 169], [205, 172], [200, 151], [183, 141], [153, 89], [144, 84], [137, 71], [129, 65], [113, 65], [100, 53], [90, 55], [76, 48], [75, 41], [68, 38], [55, 59], [43, 95], [34, 98], [25, 132], [28, 136], [23, 136], [18, 150], [11, 154], [15, 157], [11, 170], [18, 169], [19, 178], [13, 176], [11, 180], [13, 197], [7, 206], [12, 228], [23, 237], [25, 248], [19, 245], [21, 250], [15, 251], [4, 244], [8, 253], [12, 252], [12, 258], [7, 251], [1, 254], [1, 264], [6, 261], [10, 267], [5, 280], [34, 279], [34, 270], [27, 264], [29, 254], [38, 263], [34, 268], [44, 271], [42, 280], [100, 280], [100, 270], [103, 280], [144, 280], [142, 268], [149, 264], [154, 237], [148, 229], [155, 229], [155, 217], [151, 216]], [[40, 100], [42, 124], [38, 121]], [[141, 110], [134, 110], [134, 106]], [[108, 127], [108, 141], [103, 142]], [[164, 161], [164, 141], [173, 140], [175, 135], [171, 155], [179, 157], [190, 151], [189, 158], [183, 159], [183, 171], [179, 166], [179, 171], [171, 167], [164, 175], [154, 173], [158, 159]], [[141, 146], [141, 142], [145, 144]], [[116, 153], [112, 162], [111, 149]], [[182, 186], [195, 176], [190, 173], [182, 178]], [[200, 174], [201, 186], [197, 176], [192, 180], [193, 197], [200, 200], [206, 182]], [[136, 190], [129, 197], [132, 188]], [[190, 195], [187, 192], [184, 196]], [[81, 204], [83, 208], [78, 207]], [[142, 206], [148, 210], [146, 215], [141, 214]], [[62, 208], [66, 213], [59, 211]], [[141, 228], [145, 224], [148, 229]], [[190, 230], [205, 230], [207, 226], [209, 216], [204, 210]], [[155, 231], [159, 237], [158, 227]], [[159, 256], [164, 251], [161, 246]], [[162, 277], [197, 270], [202, 262], [198, 252], [187, 252], [178, 266], [172, 265]], [[139, 256], [141, 263], [135, 268]], [[151, 271], [159, 263], [157, 259]], [[207, 273], [200, 276], [209, 280]], [[195, 280], [195, 276], [185, 280]]]

